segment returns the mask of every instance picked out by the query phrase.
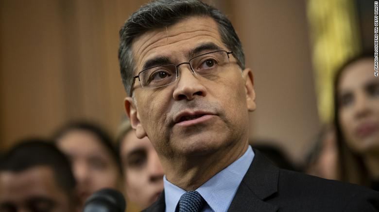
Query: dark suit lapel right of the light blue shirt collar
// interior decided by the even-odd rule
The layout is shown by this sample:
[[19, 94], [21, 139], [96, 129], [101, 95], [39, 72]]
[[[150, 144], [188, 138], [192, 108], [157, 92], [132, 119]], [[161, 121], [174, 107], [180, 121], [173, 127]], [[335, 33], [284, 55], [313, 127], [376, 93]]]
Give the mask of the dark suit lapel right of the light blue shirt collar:
[[279, 169], [259, 151], [242, 179], [228, 212], [276, 212], [276, 205], [265, 202], [277, 192]]

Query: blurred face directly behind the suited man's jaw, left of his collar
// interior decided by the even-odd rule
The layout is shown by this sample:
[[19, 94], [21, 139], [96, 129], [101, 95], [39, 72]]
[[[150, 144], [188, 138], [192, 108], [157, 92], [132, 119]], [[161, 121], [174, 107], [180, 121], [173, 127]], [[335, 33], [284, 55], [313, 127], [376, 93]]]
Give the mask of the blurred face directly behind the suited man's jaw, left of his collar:
[[125, 191], [141, 208], [156, 201], [163, 190], [163, 169], [158, 155], [147, 137], [138, 139], [132, 130], [121, 143]]

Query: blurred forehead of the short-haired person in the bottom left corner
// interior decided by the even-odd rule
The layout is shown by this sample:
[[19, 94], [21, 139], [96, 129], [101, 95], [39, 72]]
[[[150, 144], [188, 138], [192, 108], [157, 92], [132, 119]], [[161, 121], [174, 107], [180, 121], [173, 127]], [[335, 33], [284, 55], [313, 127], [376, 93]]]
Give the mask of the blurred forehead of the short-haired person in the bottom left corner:
[[33, 167], [21, 172], [0, 172], [0, 201], [22, 201], [32, 197], [53, 197], [64, 193], [50, 167]]

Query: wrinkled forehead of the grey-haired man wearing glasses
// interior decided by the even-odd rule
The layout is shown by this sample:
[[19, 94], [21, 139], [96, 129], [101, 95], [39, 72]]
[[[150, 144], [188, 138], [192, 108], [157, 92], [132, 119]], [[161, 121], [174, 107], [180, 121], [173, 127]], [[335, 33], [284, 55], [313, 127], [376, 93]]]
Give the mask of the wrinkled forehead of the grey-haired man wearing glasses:
[[140, 70], [144, 61], [157, 56], [188, 59], [189, 51], [204, 43], [213, 43], [226, 50], [216, 21], [208, 16], [192, 16], [170, 27], [140, 35], [134, 40], [132, 49], [137, 70]]

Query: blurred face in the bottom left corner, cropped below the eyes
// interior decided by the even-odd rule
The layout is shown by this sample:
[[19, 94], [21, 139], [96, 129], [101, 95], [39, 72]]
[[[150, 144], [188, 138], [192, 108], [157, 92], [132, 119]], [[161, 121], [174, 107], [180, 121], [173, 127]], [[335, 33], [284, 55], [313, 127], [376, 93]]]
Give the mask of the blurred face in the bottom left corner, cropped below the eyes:
[[0, 212], [73, 212], [49, 167], [0, 172]]

